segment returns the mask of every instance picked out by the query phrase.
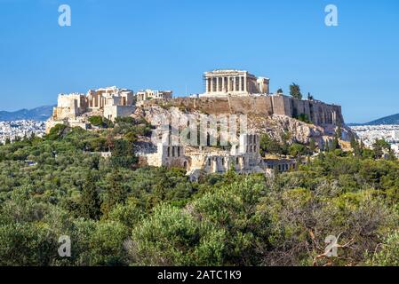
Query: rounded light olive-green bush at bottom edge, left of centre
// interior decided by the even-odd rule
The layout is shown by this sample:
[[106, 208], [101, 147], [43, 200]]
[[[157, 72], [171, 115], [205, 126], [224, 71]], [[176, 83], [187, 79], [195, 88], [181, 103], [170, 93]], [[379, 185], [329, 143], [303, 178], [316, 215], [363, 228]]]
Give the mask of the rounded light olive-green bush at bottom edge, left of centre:
[[161, 205], [132, 230], [131, 264], [222, 265], [225, 232], [187, 211]]

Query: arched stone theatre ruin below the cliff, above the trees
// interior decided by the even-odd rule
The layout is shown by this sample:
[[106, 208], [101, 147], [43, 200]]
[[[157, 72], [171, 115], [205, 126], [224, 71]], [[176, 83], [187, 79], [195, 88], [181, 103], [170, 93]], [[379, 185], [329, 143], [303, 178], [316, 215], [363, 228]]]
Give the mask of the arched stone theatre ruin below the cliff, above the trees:
[[225, 173], [227, 170], [271, 176], [275, 172], [296, 169], [298, 162], [290, 158], [262, 157], [259, 154], [257, 134], [242, 134], [237, 144], [226, 148], [181, 144], [172, 146], [170, 141], [166, 141], [156, 146], [156, 153], [143, 154], [142, 157], [149, 166], [185, 169], [191, 180], [197, 180], [203, 174]]

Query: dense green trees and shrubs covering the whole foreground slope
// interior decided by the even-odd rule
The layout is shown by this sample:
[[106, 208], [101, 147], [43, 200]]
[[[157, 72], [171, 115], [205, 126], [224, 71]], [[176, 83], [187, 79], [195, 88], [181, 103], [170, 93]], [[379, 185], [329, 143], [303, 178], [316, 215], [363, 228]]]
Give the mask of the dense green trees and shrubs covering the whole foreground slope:
[[[0, 264], [398, 264], [399, 162], [334, 150], [275, 178], [229, 171], [192, 183], [183, 170], [137, 169], [132, 143], [149, 130], [131, 119], [58, 126], [0, 146]], [[115, 159], [95, 154], [108, 150]], [[323, 257], [329, 235], [339, 257]]]

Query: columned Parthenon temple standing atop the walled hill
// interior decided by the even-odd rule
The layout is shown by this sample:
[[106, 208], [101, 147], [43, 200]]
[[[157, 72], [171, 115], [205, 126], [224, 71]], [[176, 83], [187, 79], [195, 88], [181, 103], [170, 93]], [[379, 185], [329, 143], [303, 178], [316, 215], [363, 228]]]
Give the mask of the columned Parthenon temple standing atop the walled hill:
[[214, 70], [203, 75], [206, 89], [200, 97], [249, 96], [268, 94], [269, 79], [256, 77], [248, 71]]

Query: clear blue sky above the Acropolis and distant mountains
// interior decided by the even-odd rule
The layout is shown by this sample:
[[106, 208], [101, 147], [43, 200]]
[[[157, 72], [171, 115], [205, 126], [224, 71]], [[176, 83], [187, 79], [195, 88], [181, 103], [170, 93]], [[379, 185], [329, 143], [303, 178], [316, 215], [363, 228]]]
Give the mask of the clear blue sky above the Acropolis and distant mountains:
[[0, 110], [108, 85], [182, 96], [203, 91], [203, 71], [239, 68], [367, 122], [399, 113], [398, 34], [397, 0], [0, 0]]

